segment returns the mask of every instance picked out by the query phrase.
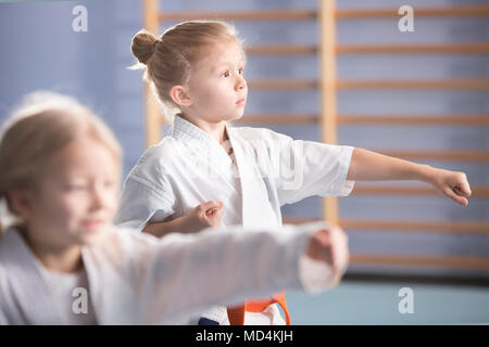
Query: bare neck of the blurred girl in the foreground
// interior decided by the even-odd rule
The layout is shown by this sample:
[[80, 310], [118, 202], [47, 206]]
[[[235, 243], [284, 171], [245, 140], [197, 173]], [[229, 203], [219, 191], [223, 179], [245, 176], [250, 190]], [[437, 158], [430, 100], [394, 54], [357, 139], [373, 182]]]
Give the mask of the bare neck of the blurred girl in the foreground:
[[32, 237], [29, 232], [22, 233], [28, 246], [42, 264], [42, 266], [55, 272], [77, 272], [83, 268], [82, 246], [52, 245], [42, 240]]

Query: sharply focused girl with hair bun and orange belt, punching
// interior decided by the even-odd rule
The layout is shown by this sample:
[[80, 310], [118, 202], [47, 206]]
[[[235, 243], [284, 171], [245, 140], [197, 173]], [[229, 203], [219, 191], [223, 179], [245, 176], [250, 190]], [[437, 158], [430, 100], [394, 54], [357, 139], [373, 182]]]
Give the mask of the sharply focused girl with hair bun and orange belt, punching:
[[[131, 51], [173, 130], [127, 177], [118, 224], [162, 236], [218, 224], [210, 214], [226, 227], [279, 227], [280, 206], [313, 195], [346, 196], [356, 180], [421, 180], [467, 204], [463, 172], [229, 126], [243, 115], [248, 88], [243, 47], [226, 23], [185, 22], [159, 37], [143, 30], [133, 38]], [[283, 324], [277, 304], [290, 323], [283, 294], [216, 307], [201, 323]]]

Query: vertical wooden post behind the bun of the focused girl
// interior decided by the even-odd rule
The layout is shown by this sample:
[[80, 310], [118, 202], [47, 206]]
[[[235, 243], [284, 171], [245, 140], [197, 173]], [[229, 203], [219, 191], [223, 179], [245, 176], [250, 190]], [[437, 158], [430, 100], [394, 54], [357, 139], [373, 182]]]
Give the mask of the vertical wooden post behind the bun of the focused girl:
[[[160, 30], [159, 11], [159, 0], [143, 0], [143, 26], [154, 35], [158, 35]], [[147, 83], [145, 86], [147, 146], [158, 143], [162, 132], [162, 115], [160, 115], [154, 98], [149, 83]]]

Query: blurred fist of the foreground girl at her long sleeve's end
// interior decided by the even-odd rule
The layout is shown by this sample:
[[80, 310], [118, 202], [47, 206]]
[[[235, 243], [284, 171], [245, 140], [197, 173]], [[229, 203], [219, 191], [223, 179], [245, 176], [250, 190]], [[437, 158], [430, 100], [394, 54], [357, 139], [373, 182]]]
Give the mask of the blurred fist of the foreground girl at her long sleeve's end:
[[314, 260], [326, 262], [333, 270], [334, 283], [341, 279], [350, 259], [348, 236], [339, 227], [317, 231], [310, 240], [306, 255]]

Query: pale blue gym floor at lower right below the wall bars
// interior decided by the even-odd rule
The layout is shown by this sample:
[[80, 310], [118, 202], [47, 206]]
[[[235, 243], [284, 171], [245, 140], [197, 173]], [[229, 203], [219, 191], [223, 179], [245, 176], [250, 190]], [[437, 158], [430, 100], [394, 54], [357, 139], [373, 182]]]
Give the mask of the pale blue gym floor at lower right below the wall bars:
[[[412, 313], [400, 313], [400, 290], [412, 290]], [[401, 292], [402, 293], [402, 292]], [[311, 296], [287, 293], [292, 324], [489, 324], [489, 286], [474, 283], [344, 280]]]

